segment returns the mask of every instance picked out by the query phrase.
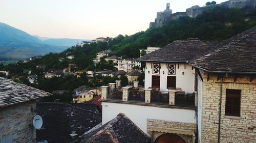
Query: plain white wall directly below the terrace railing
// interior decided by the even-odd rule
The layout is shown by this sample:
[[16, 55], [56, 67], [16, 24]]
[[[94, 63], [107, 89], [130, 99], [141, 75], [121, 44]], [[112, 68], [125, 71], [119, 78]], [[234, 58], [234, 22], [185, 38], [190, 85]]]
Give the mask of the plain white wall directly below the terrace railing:
[[147, 119], [156, 119], [196, 124], [195, 110], [138, 106], [123, 103], [102, 102], [102, 124], [115, 118], [122, 112], [146, 133]]

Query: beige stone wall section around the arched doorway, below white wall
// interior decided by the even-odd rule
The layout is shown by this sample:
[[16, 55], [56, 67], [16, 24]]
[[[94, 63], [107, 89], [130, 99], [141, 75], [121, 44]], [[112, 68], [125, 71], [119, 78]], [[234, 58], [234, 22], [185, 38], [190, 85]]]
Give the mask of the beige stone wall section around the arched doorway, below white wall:
[[186, 143], [192, 143], [195, 142], [196, 130], [197, 124], [147, 119], [147, 134], [151, 136], [152, 142], [162, 134], [174, 133], [183, 138]]

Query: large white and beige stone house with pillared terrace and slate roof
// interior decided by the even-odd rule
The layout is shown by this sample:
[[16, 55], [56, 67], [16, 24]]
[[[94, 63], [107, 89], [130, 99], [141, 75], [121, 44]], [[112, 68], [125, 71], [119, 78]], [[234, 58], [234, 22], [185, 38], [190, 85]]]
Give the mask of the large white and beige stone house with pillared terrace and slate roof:
[[253, 27], [226, 41], [175, 41], [142, 56], [145, 89], [101, 87], [102, 124], [123, 112], [152, 142], [254, 142], [255, 38]]

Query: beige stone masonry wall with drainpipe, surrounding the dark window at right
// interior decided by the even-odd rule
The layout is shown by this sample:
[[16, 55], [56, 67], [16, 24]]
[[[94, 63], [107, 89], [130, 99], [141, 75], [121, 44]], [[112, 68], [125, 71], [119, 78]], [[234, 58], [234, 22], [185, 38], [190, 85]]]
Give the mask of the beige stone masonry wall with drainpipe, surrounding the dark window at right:
[[[219, 123], [220, 79], [203, 75], [201, 142], [217, 142]], [[221, 106], [221, 142], [255, 142], [256, 140], [256, 79], [249, 76], [223, 77]], [[241, 90], [240, 117], [225, 116], [226, 89]]]

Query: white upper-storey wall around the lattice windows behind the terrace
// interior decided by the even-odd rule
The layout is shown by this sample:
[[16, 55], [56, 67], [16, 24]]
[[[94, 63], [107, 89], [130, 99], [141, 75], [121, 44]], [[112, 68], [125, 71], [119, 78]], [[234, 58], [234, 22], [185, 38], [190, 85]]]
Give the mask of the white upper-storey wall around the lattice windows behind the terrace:
[[[153, 68], [152, 62], [152, 68]], [[153, 69], [151, 68], [151, 63], [146, 62], [146, 69], [145, 69], [145, 88], [151, 87], [152, 83], [152, 73]], [[150, 71], [150, 74], [148, 74]], [[164, 71], [164, 74], [163, 74]], [[182, 75], [184, 72], [184, 75]], [[154, 74], [158, 75], [158, 74]], [[184, 64], [176, 64], [176, 75], [168, 75], [168, 68], [166, 67], [166, 63], [161, 63], [160, 69], [160, 91], [168, 91], [167, 89], [167, 76], [176, 76], [176, 87], [181, 88], [182, 91], [187, 93], [193, 93], [195, 90], [195, 69], [192, 70], [192, 67], [186, 64], [186, 69], [184, 68]]]

